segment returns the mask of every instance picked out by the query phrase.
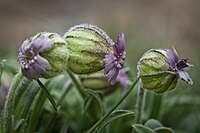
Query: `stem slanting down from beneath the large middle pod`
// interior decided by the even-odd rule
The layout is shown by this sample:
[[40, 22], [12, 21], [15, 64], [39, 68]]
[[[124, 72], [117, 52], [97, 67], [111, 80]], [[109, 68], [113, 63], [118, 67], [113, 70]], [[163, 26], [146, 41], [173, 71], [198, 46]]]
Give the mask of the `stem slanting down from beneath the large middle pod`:
[[76, 88], [78, 89], [80, 95], [82, 96], [82, 98], [84, 98], [86, 96], [85, 90], [82, 86], [82, 84], [80, 83], [80, 80], [78, 79], [78, 77], [76, 77], [72, 71], [70, 71], [69, 69], [67, 69], [67, 73], [69, 74], [69, 77], [71, 78], [72, 82], [74, 83], [74, 85], [76, 86]]

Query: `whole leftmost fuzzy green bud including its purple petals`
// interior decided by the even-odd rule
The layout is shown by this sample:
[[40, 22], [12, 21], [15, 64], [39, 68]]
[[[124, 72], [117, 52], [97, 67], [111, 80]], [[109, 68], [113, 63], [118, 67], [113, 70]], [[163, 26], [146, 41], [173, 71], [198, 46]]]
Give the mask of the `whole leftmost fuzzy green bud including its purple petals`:
[[51, 78], [67, 68], [69, 51], [65, 40], [55, 33], [42, 32], [26, 39], [18, 61], [28, 79]]

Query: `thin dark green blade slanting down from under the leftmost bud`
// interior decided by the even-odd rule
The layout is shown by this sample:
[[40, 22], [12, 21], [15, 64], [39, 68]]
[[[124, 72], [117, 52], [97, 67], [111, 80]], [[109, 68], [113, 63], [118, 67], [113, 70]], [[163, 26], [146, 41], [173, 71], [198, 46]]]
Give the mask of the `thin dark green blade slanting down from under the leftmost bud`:
[[46, 95], [46, 97], [51, 102], [51, 104], [52, 104], [53, 108], [55, 109], [55, 111], [58, 112], [57, 107], [56, 107], [56, 103], [53, 100], [53, 98], [51, 97], [49, 91], [45, 88], [45, 86], [42, 84], [42, 82], [39, 79], [37, 80], [37, 82], [40, 85], [40, 87], [42, 88], [42, 91], [44, 92], [44, 94]]

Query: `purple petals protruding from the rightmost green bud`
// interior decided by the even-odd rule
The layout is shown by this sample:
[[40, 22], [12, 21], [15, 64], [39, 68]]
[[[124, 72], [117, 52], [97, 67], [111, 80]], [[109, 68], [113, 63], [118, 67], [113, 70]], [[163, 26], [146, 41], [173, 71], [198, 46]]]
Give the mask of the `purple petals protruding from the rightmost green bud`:
[[192, 66], [188, 63], [188, 59], [179, 60], [179, 55], [174, 47], [173, 49], [168, 49], [166, 52], [167, 59], [170, 64], [170, 71], [177, 73], [180, 79], [192, 85], [192, 79], [187, 73], [187, 70], [189, 70], [189, 68]]

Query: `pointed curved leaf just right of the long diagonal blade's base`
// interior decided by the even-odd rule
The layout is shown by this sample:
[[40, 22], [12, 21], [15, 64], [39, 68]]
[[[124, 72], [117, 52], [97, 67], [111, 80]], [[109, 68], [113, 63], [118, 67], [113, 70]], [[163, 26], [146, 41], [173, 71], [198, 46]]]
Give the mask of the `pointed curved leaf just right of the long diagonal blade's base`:
[[100, 126], [99, 126], [99, 131], [101, 132], [101, 130], [106, 127], [107, 125], [111, 124], [113, 121], [115, 121], [116, 119], [125, 117], [125, 116], [133, 116], [134, 112], [130, 111], [130, 110], [116, 110], [114, 111]]

